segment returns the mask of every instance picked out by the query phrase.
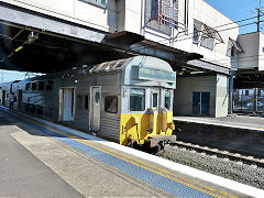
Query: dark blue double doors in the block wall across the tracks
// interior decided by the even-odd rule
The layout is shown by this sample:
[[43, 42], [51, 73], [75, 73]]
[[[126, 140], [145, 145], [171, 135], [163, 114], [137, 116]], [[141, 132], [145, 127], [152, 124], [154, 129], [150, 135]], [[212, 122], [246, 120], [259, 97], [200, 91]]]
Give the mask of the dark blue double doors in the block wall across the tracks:
[[193, 114], [209, 116], [210, 92], [193, 92]]

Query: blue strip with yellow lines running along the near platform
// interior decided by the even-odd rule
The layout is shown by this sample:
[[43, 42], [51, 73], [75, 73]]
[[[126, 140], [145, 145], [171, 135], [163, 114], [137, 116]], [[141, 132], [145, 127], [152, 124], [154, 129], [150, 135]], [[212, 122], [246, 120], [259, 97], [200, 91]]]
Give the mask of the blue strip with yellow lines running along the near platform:
[[[9, 113], [10, 114], [10, 113]], [[12, 114], [11, 114], [12, 116]], [[194, 183], [186, 182], [183, 178], [177, 177], [176, 175], [148, 165], [139, 160], [133, 160], [125, 155], [119, 154], [110, 148], [100, 146], [92, 141], [77, 138], [70, 133], [64, 131], [57, 131], [42, 123], [36, 123], [29, 119], [21, 119], [21, 117], [15, 117], [15, 119], [21, 122], [31, 125], [32, 128], [44, 132], [45, 134], [53, 136], [67, 145], [73, 146], [74, 148], [86, 153], [89, 156], [97, 158], [112, 167], [118, 168], [119, 170], [129, 174], [144, 183], [147, 183], [161, 190], [164, 190], [173, 196], [179, 198], [211, 198], [211, 197], [233, 197], [226, 193], [221, 193], [217, 189], [210, 188], [209, 190], [206, 187], [198, 186]]]

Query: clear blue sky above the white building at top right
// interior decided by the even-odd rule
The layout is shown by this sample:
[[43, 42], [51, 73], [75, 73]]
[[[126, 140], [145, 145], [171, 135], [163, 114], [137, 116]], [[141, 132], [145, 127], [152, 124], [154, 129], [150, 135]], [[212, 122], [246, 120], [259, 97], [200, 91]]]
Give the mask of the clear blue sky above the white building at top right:
[[[235, 22], [256, 16], [257, 14], [256, 11], [254, 11], [254, 9], [260, 7], [260, 0], [206, 0], [206, 1]], [[264, 0], [261, 0], [261, 6], [264, 8]], [[256, 18], [244, 22], [239, 22], [240, 25], [245, 25], [240, 28], [240, 34], [255, 32], [256, 24], [250, 24], [255, 21]], [[264, 23], [262, 23], [262, 32], [264, 32], [263, 24]]]

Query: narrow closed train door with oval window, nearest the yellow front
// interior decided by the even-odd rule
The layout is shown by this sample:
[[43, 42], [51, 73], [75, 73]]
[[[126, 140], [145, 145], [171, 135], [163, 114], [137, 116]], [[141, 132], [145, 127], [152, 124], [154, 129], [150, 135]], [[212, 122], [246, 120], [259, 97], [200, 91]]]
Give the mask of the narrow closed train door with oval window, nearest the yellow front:
[[90, 128], [92, 131], [99, 131], [100, 129], [100, 106], [101, 100], [101, 87], [91, 87], [90, 88]]

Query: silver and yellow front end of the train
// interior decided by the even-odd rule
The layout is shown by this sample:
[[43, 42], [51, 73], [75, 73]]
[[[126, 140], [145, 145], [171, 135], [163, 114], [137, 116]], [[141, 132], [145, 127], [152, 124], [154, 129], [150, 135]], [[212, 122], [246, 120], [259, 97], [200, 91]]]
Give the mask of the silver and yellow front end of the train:
[[161, 148], [176, 141], [175, 88], [176, 73], [162, 59], [138, 56], [123, 67], [120, 144]]

